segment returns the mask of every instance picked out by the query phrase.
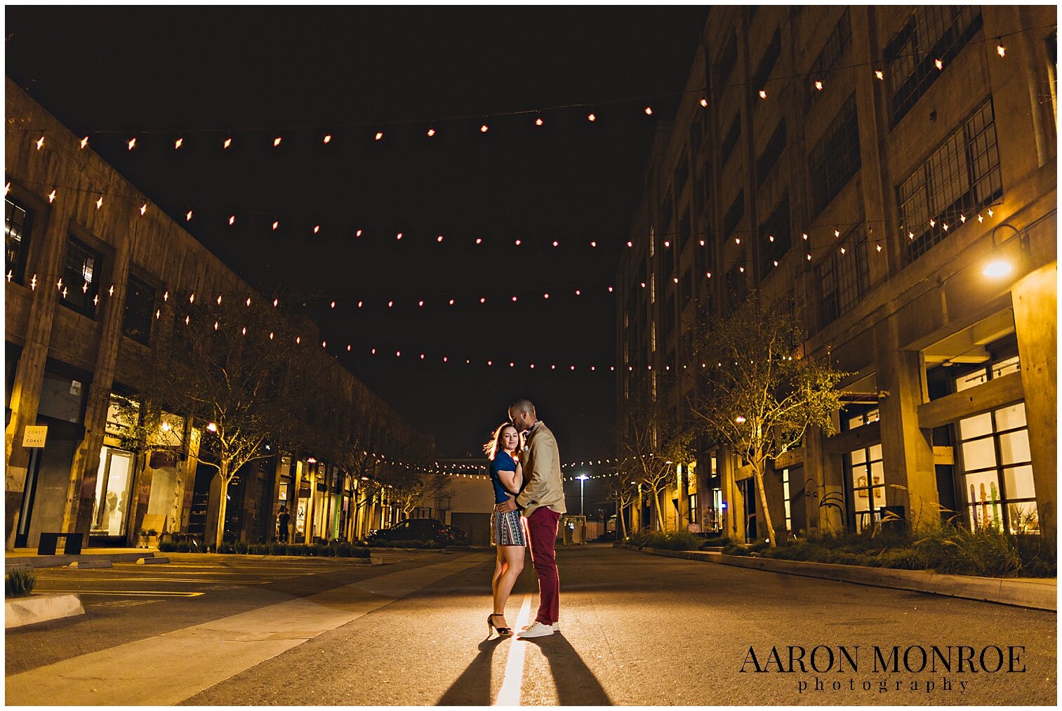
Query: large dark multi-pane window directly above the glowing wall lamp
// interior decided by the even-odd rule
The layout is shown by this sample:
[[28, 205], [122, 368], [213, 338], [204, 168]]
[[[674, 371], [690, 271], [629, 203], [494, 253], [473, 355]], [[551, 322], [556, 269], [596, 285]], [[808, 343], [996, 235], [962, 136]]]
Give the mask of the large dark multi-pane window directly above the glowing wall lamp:
[[1003, 178], [990, 99], [896, 188], [908, 262], [1000, 197]]

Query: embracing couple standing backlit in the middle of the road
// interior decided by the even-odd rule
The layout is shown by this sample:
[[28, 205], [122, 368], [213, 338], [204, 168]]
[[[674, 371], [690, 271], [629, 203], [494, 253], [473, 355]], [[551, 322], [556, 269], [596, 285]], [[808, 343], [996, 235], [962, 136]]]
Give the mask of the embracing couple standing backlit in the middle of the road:
[[509, 407], [509, 421], [495, 430], [483, 450], [491, 461], [494, 485], [491, 542], [498, 549], [491, 578], [494, 611], [486, 619], [487, 635], [492, 629], [503, 637], [513, 634], [506, 621], [506, 602], [524, 570], [524, 548], [529, 544], [531, 565], [538, 575], [538, 614], [516, 636], [552, 635], [560, 629], [556, 525], [567, 510], [556, 439], [538, 419], [531, 401], [517, 400]]

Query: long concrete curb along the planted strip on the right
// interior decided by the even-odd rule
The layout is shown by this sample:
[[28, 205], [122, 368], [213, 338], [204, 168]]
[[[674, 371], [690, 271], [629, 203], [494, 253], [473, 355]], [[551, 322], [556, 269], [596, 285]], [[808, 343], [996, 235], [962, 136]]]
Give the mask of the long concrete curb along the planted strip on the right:
[[1000, 605], [1029, 607], [1037, 610], [1058, 611], [1058, 583], [1055, 578], [978, 577], [922, 570], [842, 566], [828, 562], [782, 560], [780, 558], [750, 558], [707, 551], [666, 551], [637, 548], [626, 543], [616, 543], [616, 548], [771, 573], [803, 575], [804, 577], [818, 577], [877, 588], [911, 590]]

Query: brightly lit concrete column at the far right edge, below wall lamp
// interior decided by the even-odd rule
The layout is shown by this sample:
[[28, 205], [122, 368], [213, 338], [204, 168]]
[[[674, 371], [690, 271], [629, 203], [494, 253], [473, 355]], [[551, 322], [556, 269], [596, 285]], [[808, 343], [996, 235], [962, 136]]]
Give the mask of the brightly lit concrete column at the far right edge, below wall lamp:
[[1057, 285], [1058, 262], [1051, 262], [1021, 279], [1011, 290], [1037, 511], [1040, 531], [1051, 539], [1058, 520]]

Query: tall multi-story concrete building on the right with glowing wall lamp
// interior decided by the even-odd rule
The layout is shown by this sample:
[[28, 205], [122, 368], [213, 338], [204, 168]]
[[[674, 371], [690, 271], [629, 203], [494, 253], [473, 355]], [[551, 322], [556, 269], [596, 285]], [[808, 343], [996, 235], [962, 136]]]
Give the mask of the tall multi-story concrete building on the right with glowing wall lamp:
[[[755, 289], [804, 353], [857, 374], [838, 433], [768, 472], [780, 533], [858, 532], [886, 506], [1054, 532], [1055, 23], [1054, 6], [713, 7], [619, 267], [621, 421], [643, 383], [693, 394], [689, 324]], [[668, 516], [763, 538], [749, 467], [700, 444]]]

